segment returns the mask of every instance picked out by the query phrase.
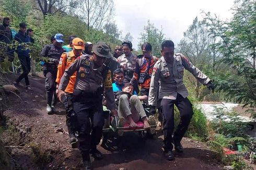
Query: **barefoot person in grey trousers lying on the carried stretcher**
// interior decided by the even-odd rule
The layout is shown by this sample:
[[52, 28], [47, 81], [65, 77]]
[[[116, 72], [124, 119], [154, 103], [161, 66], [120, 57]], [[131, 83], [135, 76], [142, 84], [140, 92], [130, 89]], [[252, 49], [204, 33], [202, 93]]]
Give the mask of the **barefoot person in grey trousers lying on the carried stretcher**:
[[142, 120], [144, 129], [149, 129], [150, 124], [155, 122], [154, 116], [147, 117], [138, 96], [133, 95], [131, 83], [124, 84], [122, 91], [115, 92], [115, 99], [119, 118], [124, 117], [125, 123], [129, 123], [131, 128], [136, 128], [139, 120]]

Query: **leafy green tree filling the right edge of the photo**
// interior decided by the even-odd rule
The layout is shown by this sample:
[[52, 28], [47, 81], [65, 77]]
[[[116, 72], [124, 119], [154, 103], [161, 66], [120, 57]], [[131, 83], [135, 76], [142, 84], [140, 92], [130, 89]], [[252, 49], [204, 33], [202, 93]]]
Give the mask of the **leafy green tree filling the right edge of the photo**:
[[226, 71], [213, 74], [218, 91], [226, 92], [227, 100], [253, 107], [256, 107], [255, 9], [255, 1], [241, 0], [235, 2], [230, 22], [210, 13], [205, 17], [212, 35], [222, 40], [216, 48], [224, 57], [220, 62], [226, 65]]

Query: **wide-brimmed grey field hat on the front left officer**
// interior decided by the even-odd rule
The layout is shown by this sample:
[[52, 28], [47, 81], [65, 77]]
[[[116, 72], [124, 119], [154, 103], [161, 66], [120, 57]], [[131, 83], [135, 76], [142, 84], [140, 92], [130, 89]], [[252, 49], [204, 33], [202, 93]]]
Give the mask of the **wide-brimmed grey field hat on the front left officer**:
[[105, 57], [105, 58], [111, 58], [112, 57], [112, 54], [110, 53], [109, 46], [104, 42], [100, 42], [100, 43], [95, 44], [92, 47], [92, 51], [100, 57]]

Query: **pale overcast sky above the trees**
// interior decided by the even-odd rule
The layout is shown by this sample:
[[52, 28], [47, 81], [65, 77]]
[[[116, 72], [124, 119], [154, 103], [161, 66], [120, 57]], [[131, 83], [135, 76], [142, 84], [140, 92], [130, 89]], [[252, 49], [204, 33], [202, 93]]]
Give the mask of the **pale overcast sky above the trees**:
[[122, 30], [123, 37], [127, 32], [131, 32], [133, 47], [136, 49], [139, 33], [147, 25], [148, 19], [157, 28], [162, 26], [165, 37], [178, 44], [193, 19], [202, 16], [202, 10], [210, 11], [222, 19], [229, 19], [233, 2], [234, 0], [114, 0], [114, 19]]

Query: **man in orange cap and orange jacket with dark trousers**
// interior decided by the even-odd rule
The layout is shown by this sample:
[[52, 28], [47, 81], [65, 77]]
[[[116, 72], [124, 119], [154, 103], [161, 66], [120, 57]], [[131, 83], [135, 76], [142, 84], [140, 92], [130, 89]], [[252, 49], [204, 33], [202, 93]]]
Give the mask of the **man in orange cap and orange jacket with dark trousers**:
[[[82, 55], [83, 50], [85, 50], [85, 43], [82, 39], [79, 39], [79, 38], [73, 39], [72, 46], [73, 46], [73, 50], [71, 52], [63, 53], [61, 55], [61, 59], [60, 59], [58, 71], [57, 71], [57, 78], [56, 78], [57, 88], [59, 87], [59, 83], [61, 81], [61, 77], [65, 72], [65, 69], [71, 66], [71, 64], [75, 62], [77, 57]], [[66, 107], [66, 125], [69, 133], [69, 142], [72, 144], [73, 148], [75, 148], [75, 145], [77, 142], [77, 139], [75, 136], [74, 123], [72, 122], [72, 114], [73, 114], [72, 98], [73, 98], [75, 82], [76, 82], [76, 72], [70, 77], [68, 85], [65, 89], [66, 95], [63, 95], [61, 99], [61, 102]]]

